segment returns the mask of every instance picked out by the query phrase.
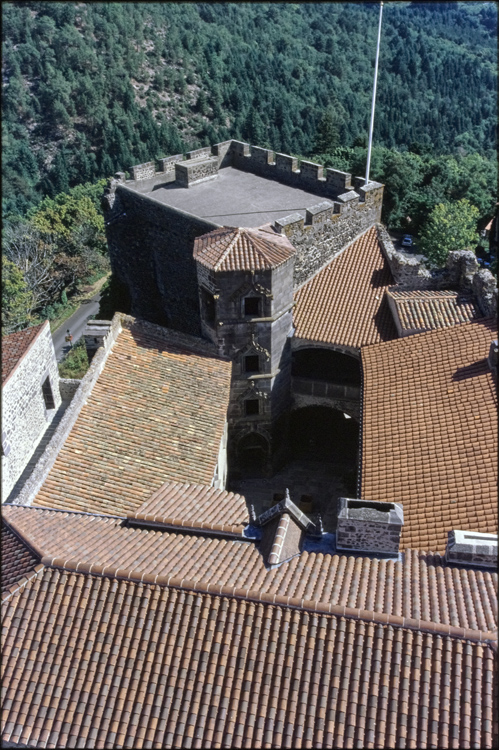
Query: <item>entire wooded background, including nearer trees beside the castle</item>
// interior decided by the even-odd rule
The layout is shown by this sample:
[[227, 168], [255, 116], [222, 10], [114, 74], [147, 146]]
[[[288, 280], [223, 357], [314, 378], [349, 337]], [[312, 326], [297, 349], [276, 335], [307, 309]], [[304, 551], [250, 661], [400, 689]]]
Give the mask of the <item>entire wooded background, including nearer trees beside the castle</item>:
[[[3, 3], [3, 332], [107, 272], [118, 170], [235, 138], [362, 175], [378, 8]], [[385, 3], [371, 177], [390, 229], [446, 224], [437, 264], [493, 215], [496, 36], [493, 3]]]

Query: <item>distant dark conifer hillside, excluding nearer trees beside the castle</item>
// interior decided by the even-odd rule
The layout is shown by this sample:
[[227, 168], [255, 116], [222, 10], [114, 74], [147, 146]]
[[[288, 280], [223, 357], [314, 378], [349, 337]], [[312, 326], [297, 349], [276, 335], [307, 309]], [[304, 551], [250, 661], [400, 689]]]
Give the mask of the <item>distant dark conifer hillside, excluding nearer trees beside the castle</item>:
[[[378, 4], [2, 9], [7, 214], [230, 137], [302, 156], [365, 142]], [[496, 31], [494, 3], [385, 3], [376, 145], [490, 162]]]

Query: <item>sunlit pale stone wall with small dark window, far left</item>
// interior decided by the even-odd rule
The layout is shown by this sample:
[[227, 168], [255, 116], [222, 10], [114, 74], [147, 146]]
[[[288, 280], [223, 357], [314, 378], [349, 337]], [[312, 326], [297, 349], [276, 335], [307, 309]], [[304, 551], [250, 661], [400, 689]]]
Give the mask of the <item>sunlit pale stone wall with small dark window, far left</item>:
[[[47, 377], [54, 409], [47, 409], [42, 394]], [[47, 322], [3, 386], [2, 501], [24, 471], [60, 404], [59, 371]]]

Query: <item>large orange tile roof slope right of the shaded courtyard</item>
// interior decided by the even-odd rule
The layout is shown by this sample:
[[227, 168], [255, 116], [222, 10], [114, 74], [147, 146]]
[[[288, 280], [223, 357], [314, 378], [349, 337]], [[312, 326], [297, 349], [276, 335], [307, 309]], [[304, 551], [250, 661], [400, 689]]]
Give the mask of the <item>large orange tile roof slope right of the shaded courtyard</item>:
[[497, 530], [497, 392], [481, 319], [362, 349], [362, 497], [401, 502], [401, 549]]

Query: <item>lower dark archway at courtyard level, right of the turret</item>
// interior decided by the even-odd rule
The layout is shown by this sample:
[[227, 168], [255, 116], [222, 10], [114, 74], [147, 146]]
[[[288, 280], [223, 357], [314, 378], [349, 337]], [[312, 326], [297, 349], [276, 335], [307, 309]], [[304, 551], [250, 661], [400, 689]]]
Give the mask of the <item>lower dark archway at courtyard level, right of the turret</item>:
[[326, 461], [354, 468], [359, 424], [337, 409], [306, 406], [291, 413], [290, 448], [294, 460]]

